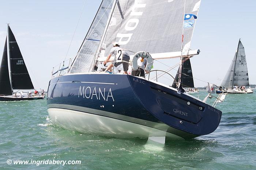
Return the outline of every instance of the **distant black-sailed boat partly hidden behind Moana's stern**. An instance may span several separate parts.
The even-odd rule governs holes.
[[[193,74],[190,59],[182,58],[183,64],[181,65],[181,84],[185,92],[188,94],[198,93],[198,90],[194,86]],[[173,81],[172,87],[177,88],[176,82],[178,82],[180,73],[180,67],[178,68],[175,80]]]

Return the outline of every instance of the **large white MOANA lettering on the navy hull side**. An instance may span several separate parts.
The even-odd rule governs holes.
[[[109,88],[109,90],[106,91],[106,88],[102,90],[100,87],[96,88],[96,86],[95,87],[80,86],[78,91],[78,97],[79,96],[87,99],[97,99],[97,100],[105,100],[105,101],[112,100],[113,102],[115,101],[112,95],[111,88]]]

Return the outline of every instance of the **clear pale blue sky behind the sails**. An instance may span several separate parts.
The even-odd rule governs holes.
[[[84,0],[1,1],[0,55],[9,22],[35,88],[47,89],[52,67],[65,58],[83,3]],[[76,55],[100,3],[101,0],[86,1],[67,58]],[[217,79],[224,78],[242,38],[249,81],[256,84],[255,8],[255,0],[202,0],[192,38],[192,48],[201,51],[191,59],[195,78],[221,84]],[[194,81],[196,87],[206,86],[205,82]]]

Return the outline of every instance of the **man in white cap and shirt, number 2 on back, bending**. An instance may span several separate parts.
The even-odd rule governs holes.
[[[110,50],[110,54],[106,58],[104,65],[108,63],[112,54],[116,54],[116,58],[112,61],[111,64],[109,64],[109,66],[106,68],[106,71],[109,71],[113,67],[114,63],[115,63],[114,65],[115,67],[119,66],[120,64],[123,64],[124,74],[128,74],[127,71],[129,66],[129,60],[130,60],[129,54],[125,50],[120,48],[120,45],[118,43],[114,42],[113,48]],[[122,62],[118,62],[118,60],[121,60]]]

